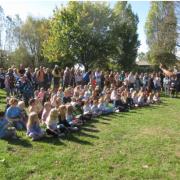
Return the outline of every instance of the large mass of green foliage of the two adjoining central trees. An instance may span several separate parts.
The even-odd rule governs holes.
[[[82,63],[86,68],[108,68],[112,63],[132,65],[137,54],[138,18],[127,3],[69,2],[54,11],[43,54],[63,65]],[[122,18],[123,15],[123,18]]]

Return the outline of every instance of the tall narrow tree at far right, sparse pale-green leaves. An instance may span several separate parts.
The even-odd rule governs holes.
[[[174,2],[151,2],[145,32],[152,64],[172,65],[175,63],[177,22]]]

